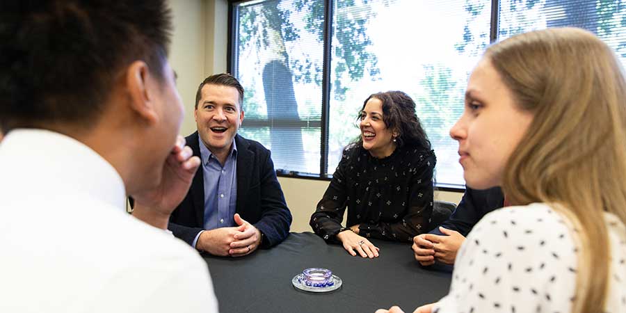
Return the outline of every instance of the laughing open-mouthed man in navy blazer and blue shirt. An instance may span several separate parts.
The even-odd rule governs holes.
[[[269,150],[237,134],[242,102],[243,87],[230,74],[200,83],[193,114],[198,131],[186,143],[202,166],[168,225],[212,255],[240,257],[275,246],[291,225]]]

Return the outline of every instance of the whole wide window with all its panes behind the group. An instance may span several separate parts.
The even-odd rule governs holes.
[[[624,24],[623,24],[624,23]],[[417,104],[438,186],[463,187],[449,129],[484,49],[556,26],[596,33],[626,60],[626,3],[573,0],[265,0],[232,3],[231,72],[246,88],[241,134],[279,175],[330,177],[372,93]]]

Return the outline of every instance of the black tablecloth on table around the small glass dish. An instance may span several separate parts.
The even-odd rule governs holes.
[[[412,312],[447,294],[451,274],[420,267],[410,244],[372,243],[380,248],[380,257],[364,259],[313,233],[291,233],[280,245],[246,257],[203,257],[222,313],[374,313],[391,305]],[[342,288],[328,294],[296,289],[291,279],[310,267],[330,269],[342,279]]]

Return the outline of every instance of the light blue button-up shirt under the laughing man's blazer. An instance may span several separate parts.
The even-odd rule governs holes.
[[[237,147],[232,141],[230,153],[224,166],[200,142],[200,159],[202,159],[202,176],[204,178],[204,230],[235,225],[232,216],[235,214],[237,200]],[[193,239],[193,247],[202,232]]]

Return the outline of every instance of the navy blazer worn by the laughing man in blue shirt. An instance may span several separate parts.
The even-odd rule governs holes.
[[[193,155],[200,157],[198,131],[185,138]],[[278,184],[270,152],[256,141],[236,135],[237,200],[236,213],[255,225],[264,239],[262,248],[275,246],[287,238],[291,212]],[[204,228],[204,174],[198,169],[184,200],[172,212],[168,229],[189,245]]]

